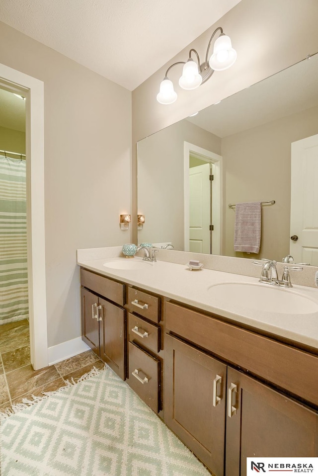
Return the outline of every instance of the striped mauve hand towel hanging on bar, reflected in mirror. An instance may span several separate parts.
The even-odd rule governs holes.
[[[234,251],[259,253],[261,202],[237,203],[235,209]]]

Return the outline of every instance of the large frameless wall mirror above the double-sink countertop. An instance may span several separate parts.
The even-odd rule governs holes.
[[[138,242],[317,266],[317,81],[318,54],[139,141]],[[235,205],[253,201],[260,251],[236,252]]]

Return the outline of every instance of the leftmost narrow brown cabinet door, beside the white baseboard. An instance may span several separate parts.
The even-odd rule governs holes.
[[[82,340],[95,354],[99,353],[99,322],[97,320],[98,297],[81,288],[81,333]]]

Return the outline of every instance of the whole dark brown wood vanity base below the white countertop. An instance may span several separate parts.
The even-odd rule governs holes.
[[[247,457],[318,457],[311,349],[83,268],[81,301],[82,339],[213,475],[245,476]]]

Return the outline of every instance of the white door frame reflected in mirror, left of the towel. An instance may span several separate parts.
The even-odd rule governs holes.
[[[213,221],[219,222],[219,229],[212,233],[212,250],[213,254],[222,254],[222,232],[223,232],[223,158],[214,152],[203,149],[202,147],[184,141],[183,143],[183,163],[184,163],[184,251],[189,250],[189,157],[190,154],[198,159],[212,163],[213,169],[213,187],[212,187],[212,217]]]

